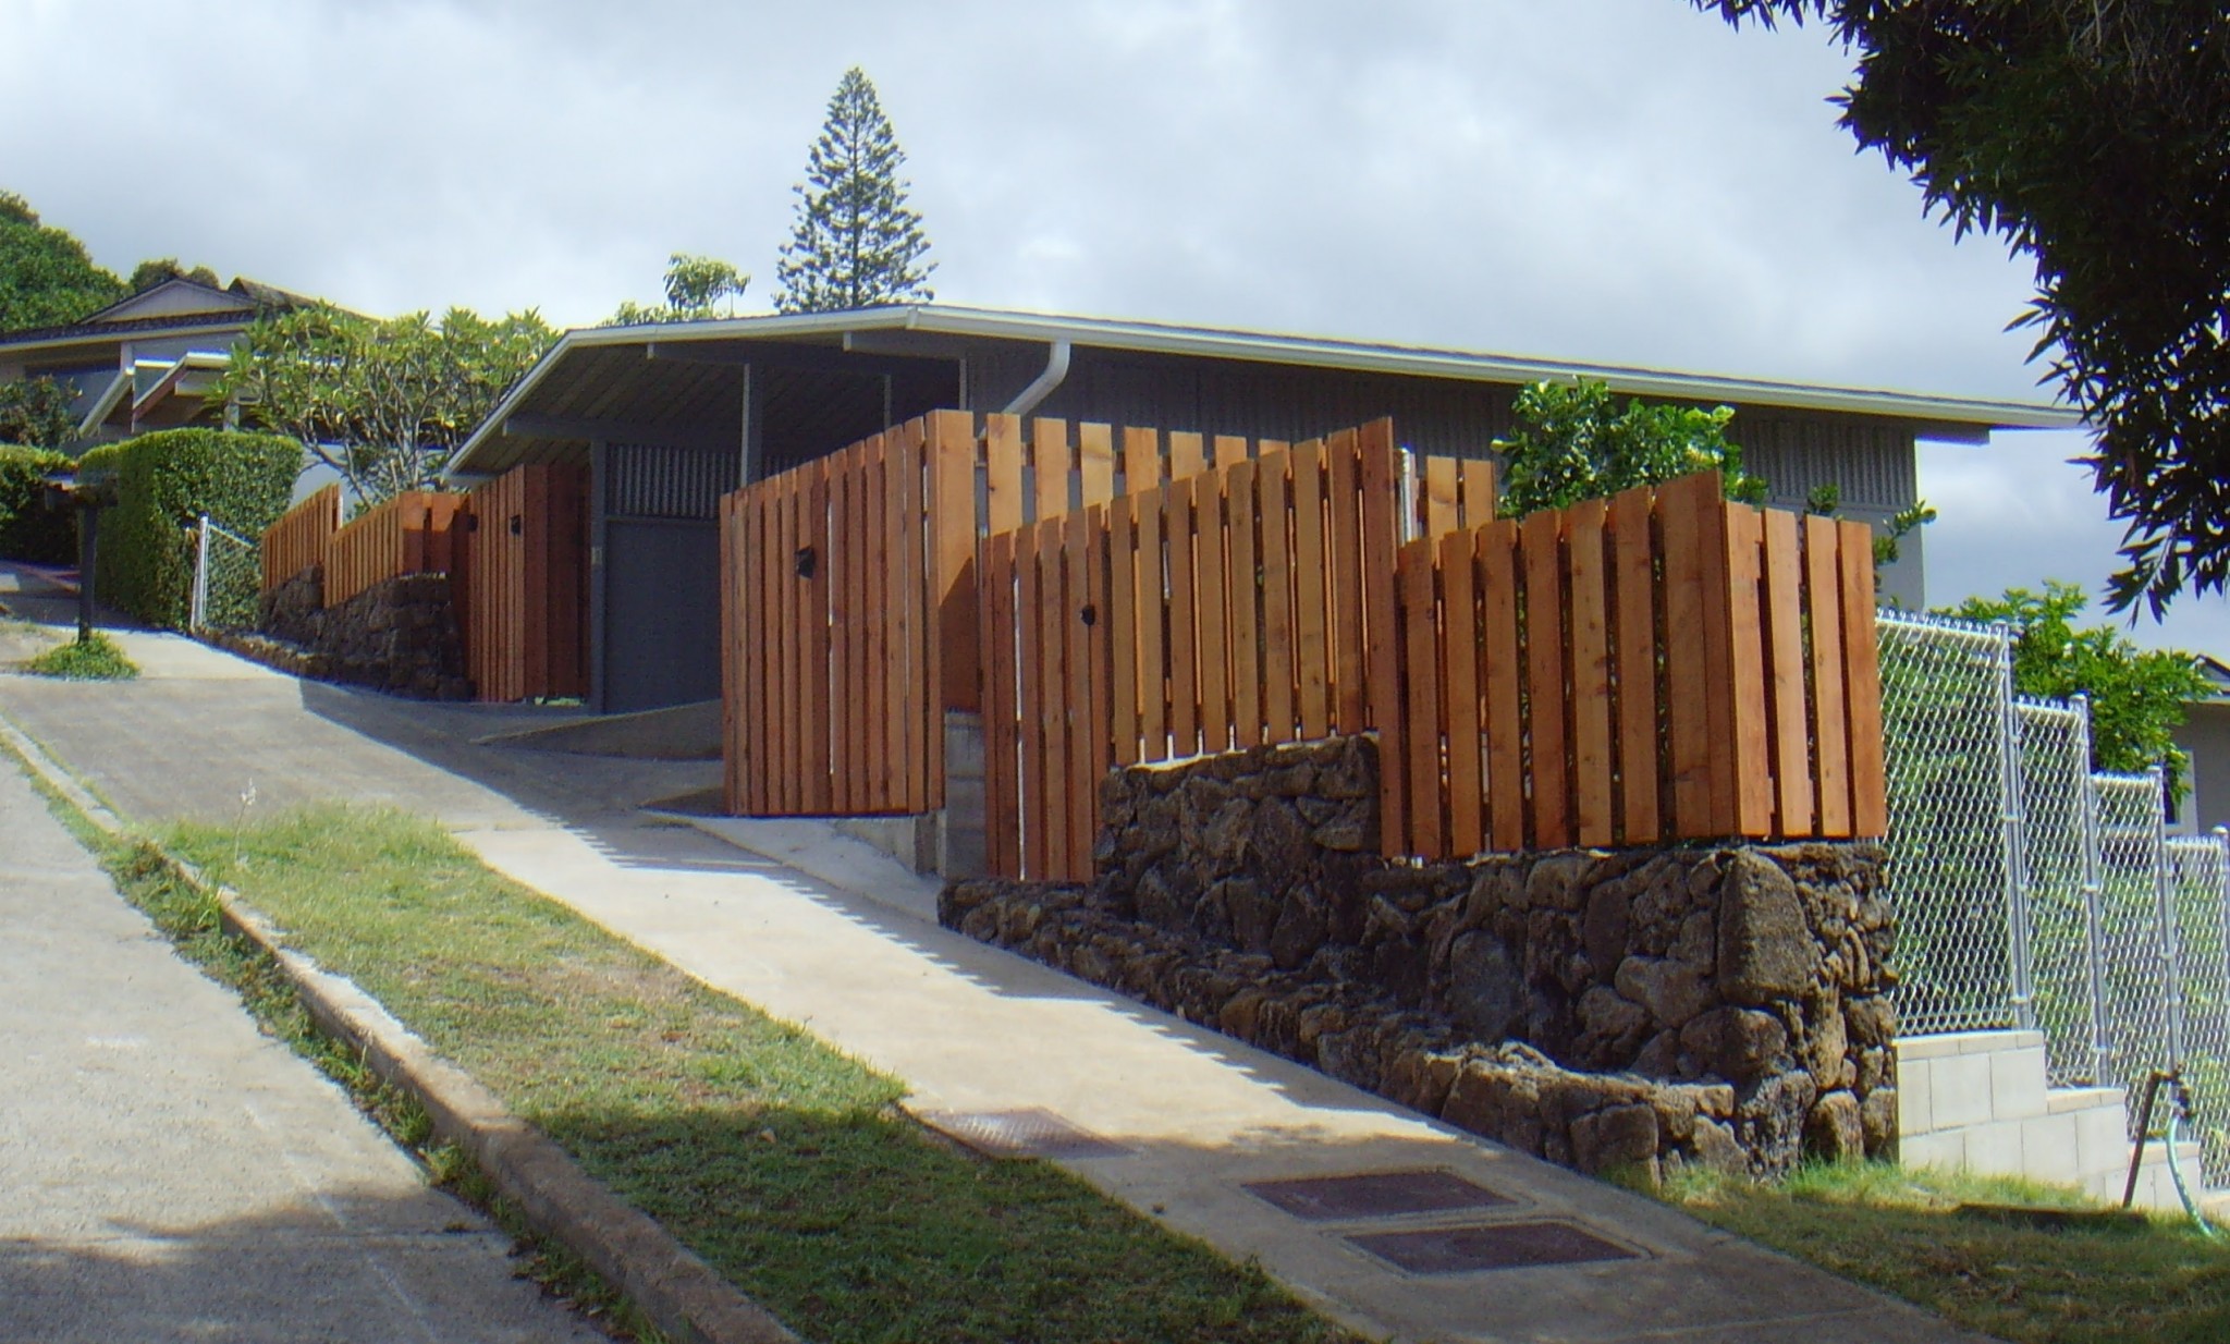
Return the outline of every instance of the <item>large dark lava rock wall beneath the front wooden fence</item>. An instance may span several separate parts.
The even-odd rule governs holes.
[[[941,916],[1581,1170],[1893,1150],[1875,847],[1387,863],[1376,796],[1367,738],[1117,771],[1090,887]]]

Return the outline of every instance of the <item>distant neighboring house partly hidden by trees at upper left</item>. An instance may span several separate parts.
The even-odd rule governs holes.
[[[234,279],[169,279],[58,328],[0,332],[0,383],[51,377],[74,392],[78,450],[140,430],[219,423],[205,395],[254,319],[314,303]]]

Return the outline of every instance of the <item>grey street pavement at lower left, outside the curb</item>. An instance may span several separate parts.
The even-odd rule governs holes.
[[[602,1340],[0,762],[0,1342]]]

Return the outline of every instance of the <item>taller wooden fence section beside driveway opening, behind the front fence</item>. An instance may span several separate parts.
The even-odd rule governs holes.
[[[979,539],[1258,450],[1282,446],[943,410],[727,495],[729,811],[943,807],[943,711],[983,707]],[[1427,464],[1418,515],[1445,513],[1467,479],[1481,479],[1478,464],[1470,477],[1454,459]]]

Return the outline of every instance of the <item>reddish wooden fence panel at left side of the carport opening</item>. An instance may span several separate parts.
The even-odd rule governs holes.
[[[586,695],[589,470],[515,466],[464,497],[459,524],[450,575],[473,695]]]

